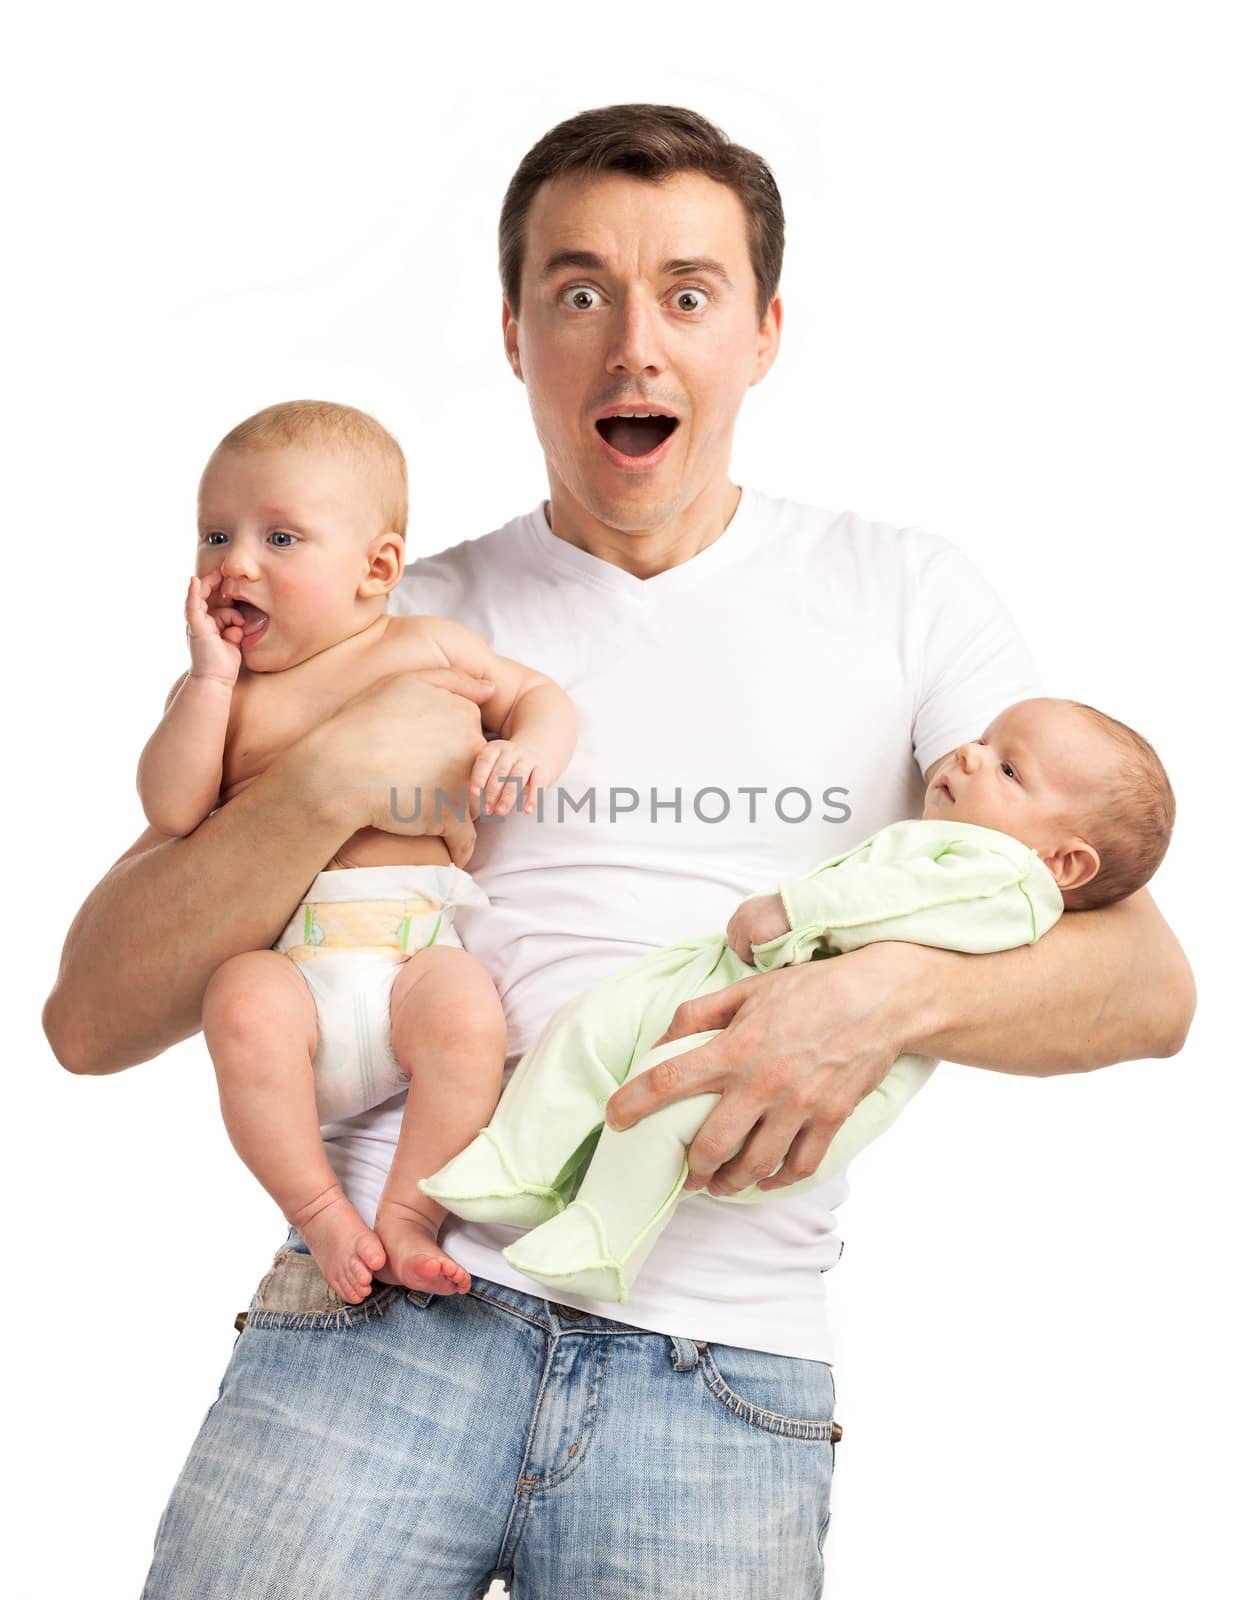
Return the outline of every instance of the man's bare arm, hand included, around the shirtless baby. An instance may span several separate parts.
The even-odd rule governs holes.
[[[194,1034],[211,973],[230,955],[269,947],[360,827],[440,832],[454,859],[465,859],[469,819],[424,805],[417,822],[400,826],[390,787],[459,794],[483,749],[472,701],[489,693],[448,670],[382,678],[187,838],[147,829],[69,930],[43,1008],[59,1062],[120,1072]]]

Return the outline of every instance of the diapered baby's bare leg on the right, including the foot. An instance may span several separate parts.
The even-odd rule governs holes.
[[[432,1294],[465,1294],[465,1267],[437,1243],[445,1208],[421,1192],[419,1179],[486,1126],[501,1094],[505,1018],[493,979],[465,950],[421,950],[395,979],[390,1034],[411,1088],[377,1206],[389,1256],[381,1275]]]

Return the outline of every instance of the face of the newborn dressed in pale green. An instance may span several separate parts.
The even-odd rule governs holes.
[[[1081,710],[1020,701],[937,770],[923,816],[996,827],[1047,858],[1115,776],[1113,746]]]

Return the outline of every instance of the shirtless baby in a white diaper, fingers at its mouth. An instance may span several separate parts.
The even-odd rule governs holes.
[[[445,666],[496,685],[481,709],[496,738],[470,774],[475,803],[499,816],[518,800],[534,810],[573,755],[574,707],[457,622],[387,614],[405,530],[403,453],[363,411],[291,402],[227,434],[198,493],[192,664],[138,768],[154,827],[190,834],[369,683]],[[318,874],[273,949],[224,962],[206,987],[202,1021],[232,1142],[350,1304],[382,1269],[437,1294],[470,1286],[437,1243],[445,1213],[417,1179],[485,1125],[501,1091],[501,1002],[453,926],[456,906],[486,904],[440,838],[366,827]],[[369,1229],[334,1178],[320,1123],[408,1080]]]

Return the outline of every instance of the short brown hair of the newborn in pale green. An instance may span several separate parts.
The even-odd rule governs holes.
[[[1140,890],[1164,859],[1177,803],[1161,758],[1134,728],[1081,701],[1070,704],[1116,746],[1118,766],[1099,811],[1076,826],[1100,856],[1089,883],[1067,890],[1067,910],[1113,906]]]

